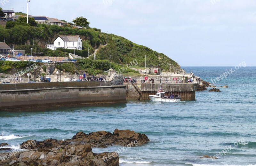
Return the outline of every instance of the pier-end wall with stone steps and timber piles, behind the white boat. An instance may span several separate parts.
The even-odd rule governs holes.
[[[149,100],[148,95],[155,95],[161,86],[166,96],[172,93],[180,95],[181,101],[196,100],[196,83],[128,83],[127,99]]]

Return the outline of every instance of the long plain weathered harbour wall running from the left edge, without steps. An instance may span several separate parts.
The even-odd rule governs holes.
[[[0,84],[0,111],[41,111],[118,103],[126,103],[126,86],[111,86],[104,81]]]

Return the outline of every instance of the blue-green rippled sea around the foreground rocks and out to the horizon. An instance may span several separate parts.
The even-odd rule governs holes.
[[[28,139],[62,140],[79,131],[128,129],[146,134],[150,141],[93,152],[119,151],[121,166],[256,166],[256,67],[183,68],[221,92],[196,92],[196,101],[180,103],[129,100],[110,107],[0,112],[0,143],[19,150]],[[223,85],[228,88],[220,88]],[[200,158],[203,155],[218,159]]]

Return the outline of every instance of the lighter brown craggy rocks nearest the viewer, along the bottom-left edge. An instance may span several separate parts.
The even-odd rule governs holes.
[[[45,142],[44,147],[48,147],[46,144]],[[112,155],[112,153],[94,154],[90,144],[61,145],[53,148],[31,149],[18,153],[2,153],[0,154],[0,161],[2,161],[0,165],[118,166],[119,157],[118,155]],[[111,158],[108,158],[109,154]],[[6,155],[8,156],[7,158]],[[108,160],[104,160],[104,158],[108,158]]]

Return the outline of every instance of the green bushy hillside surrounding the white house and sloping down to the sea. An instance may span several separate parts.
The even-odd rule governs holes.
[[[158,67],[160,64],[164,71],[181,70],[180,66],[166,55],[153,51],[148,47],[132,43],[124,37],[108,34],[107,44],[107,34],[102,33],[97,28],[87,27],[86,29],[78,29],[72,28],[70,25],[61,27],[45,24],[30,26],[19,21],[7,21],[6,27],[0,27],[0,38],[5,38],[5,42],[8,45],[14,43],[16,48],[26,48],[25,50],[28,54],[28,45],[33,42],[33,38],[35,39],[35,47],[37,50],[40,50],[39,52],[36,51],[36,54],[45,54],[48,56],[51,54],[54,56],[58,56],[56,54],[62,54],[61,52],[65,52],[65,49],[60,50],[59,53],[52,51],[49,53],[49,51],[43,49],[46,44],[52,44],[59,35],[80,35],[83,41],[82,46],[84,51],[81,51],[83,57],[88,56],[87,48],[89,47],[90,55],[94,53],[95,49],[98,49],[96,58],[99,60],[109,60],[109,55],[111,55],[111,62],[125,65],[136,59],[139,67],[145,67],[146,55],[147,67]],[[94,57],[91,56],[90,58],[93,59]]]

